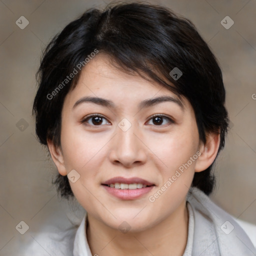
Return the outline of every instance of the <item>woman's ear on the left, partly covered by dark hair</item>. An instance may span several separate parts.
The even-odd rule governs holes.
[[[61,148],[59,146],[56,146],[50,139],[47,139],[47,145],[50,151],[51,159],[55,163],[59,174],[65,176],[67,172],[65,169],[64,158],[61,152]]]

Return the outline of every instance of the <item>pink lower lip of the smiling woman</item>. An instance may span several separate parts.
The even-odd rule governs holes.
[[[136,189],[118,189],[106,185],[102,185],[106,191],[113,196],[123,199],[123,200],[132,200],[137,199],[141,197],[142,195],[148,193],[153,186],[146,186],[142,188],[136,188]]]

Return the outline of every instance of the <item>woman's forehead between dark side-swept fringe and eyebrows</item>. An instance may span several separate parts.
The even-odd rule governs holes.
[[[74,103],[89,95],[107,98],[127,106],[144,99],[167,95],[180,101],[184,108],[189,105],[184,97],[181,96],[180,100],[163,85],[147,80],[135,72],[125,72],[114,66],[112,61],[109,55],[103,53],[93,57],[81,70],[76,86],[66,96],[67,100]]]

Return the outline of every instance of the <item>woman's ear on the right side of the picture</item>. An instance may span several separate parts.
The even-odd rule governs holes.
[[[199,151],[201,154],[195,163],[195,172],[200,172],[207,169],[216,158],[220,142],[220,134],[210,132],[206,135],[206,143],[200,145]]]

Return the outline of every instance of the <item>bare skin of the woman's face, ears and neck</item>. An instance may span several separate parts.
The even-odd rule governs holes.
[[[118,70],[110,61],[107,55],[97,54],[66,95],[61,146],[48,140],[51,157],[61,175],[72,169],[80,175],[69,183],[88,214],[86,232],[92,255],[182,255],[188,226],[185,196],[194,172],[213,162],[219,135],[209,133],[206,144],[200,143],[194,111],[184,97],[183,108],[164,101],[139,109],[142,100],[177,96],[137,74]],[[106,98],[115,106],[83,102],[73,107],[84,96]],[[103,116],[100,124],[93,118],[82,122],[93,113]],[[153,114],[165,115],[173,122],[163,117],[158,124]],[[123,118],[131,124],[126,131],[118,127]],[[149,201],[198,151],[201,155],[155,201]],[[122,200],[101,185],[115,176],[140,177],[155,186],[141,198]],[[130,226],[127,233],[119,230],[123,221]]]

